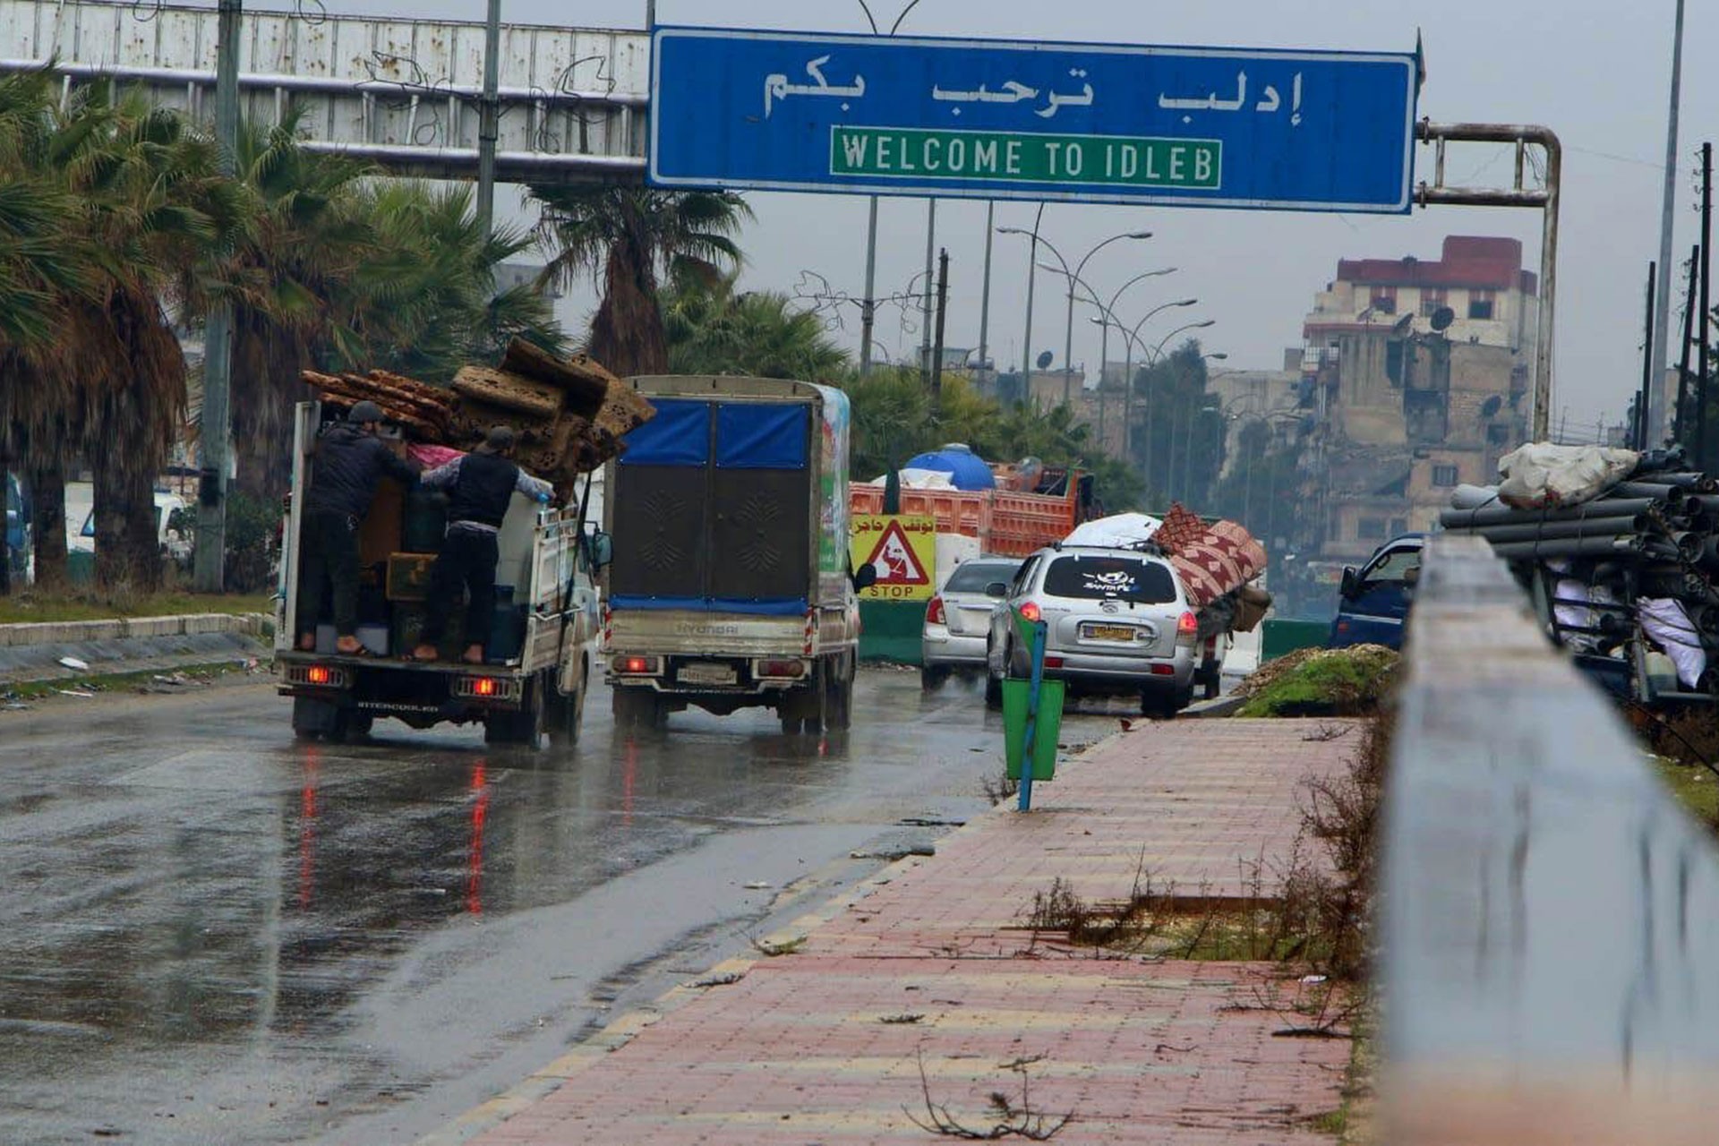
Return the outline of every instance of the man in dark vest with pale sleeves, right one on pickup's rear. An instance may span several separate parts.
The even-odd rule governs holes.
[[[554,486],[507,460],[514,431],[493,426],[480,445],[423,476],[433,490],[449,491],[447,536],[430,569],[430,601],[423,636],[409,660],[435,660],[442,631],[464,586],[466,651],[462,660],[483,663],[483,646],[490,643],[495,622],[495,562],[500,560],[497,536],[507,515],[514,490],[538,502],[548,502]]]

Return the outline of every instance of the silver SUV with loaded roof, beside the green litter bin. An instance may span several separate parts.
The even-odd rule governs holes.
[[[1009,582],[990,617],[985,699],[1002,703],[1002,679],[1031,675],[1016,619],[1045,622],[1045,677],[1069,696],[1138,696],[1147,716],[1174,716],[1193,701],[1198,619],[1181,579],[1150,550],[1050,546]]]

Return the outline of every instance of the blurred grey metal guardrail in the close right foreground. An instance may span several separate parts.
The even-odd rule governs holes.
[[[1719,1141],[1712,842],[1485,541],[1428,541],[1404,665],[1382,1141]]]

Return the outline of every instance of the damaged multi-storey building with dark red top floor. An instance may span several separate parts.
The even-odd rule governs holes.
[[[1303,574],[1325,584],[1526,440],[1537,282],[1516,239],[1449,235],[1439,259],[1343,259],[1303,325]]]

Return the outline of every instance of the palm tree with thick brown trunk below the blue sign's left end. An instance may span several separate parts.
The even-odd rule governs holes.
[[[751,208],[727,191],[648,187],[543,187],[538,241],[555,254],[545,282],[564,289],[590,273],[602,289],[586,351],[617,375],[660,375],[669,368],[657,283],[693,275],[717,282],[737,268],[732,235]]]

